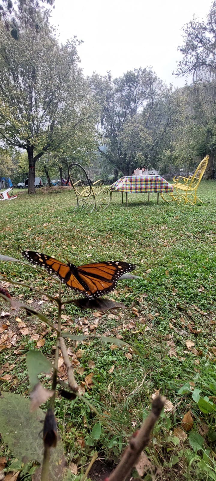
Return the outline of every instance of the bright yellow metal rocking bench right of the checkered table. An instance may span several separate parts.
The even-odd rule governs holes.
[[[161,197],[166,202],[176,201],[179,205],[181,203],[190,203],[194,205],[197,201],[203,203],[196,195],[197,187],[204,175],[204,171],[208,164],[209,155],[206,155],[200,162],[194,174],[190,177],[176,176],[173,178],[173,192],[165,194],[161,192]]]

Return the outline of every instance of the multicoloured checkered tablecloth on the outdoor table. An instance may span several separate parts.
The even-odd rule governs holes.
[[[161,176],[127,176],[120,177],[111,190],[119,192],[131,192],[132,194],[144,192],[172,192],[173,187]]]

